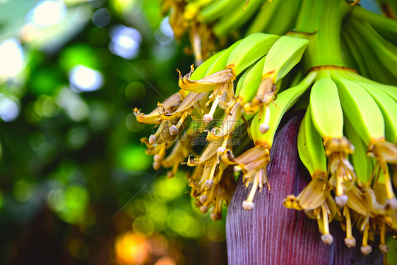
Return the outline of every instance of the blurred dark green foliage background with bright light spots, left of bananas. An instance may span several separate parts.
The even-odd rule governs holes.
[[[161,0],[0,0],[0,264],[226,264],[134,107],[189,71]],[[223,214],[225,216],[225,213]]]

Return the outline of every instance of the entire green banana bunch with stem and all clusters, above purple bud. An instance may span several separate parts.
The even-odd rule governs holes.
[[[262,188],[271,190],[266,166],[275,132],[287,112],[303,109],[297,148],[312,181],[283,205],[316,219],[326,244],[337,220],[348,247],[357,245],[356,227],[363,254],[375,235],[389,252],[386,230],[397,235],[397,20],[358,2],[165,1],[175,35],[191,34],[196,59],[210,50],[201,40],[234,31],[247,37],[179,72],[179,92],[153,112],[134,110],[138,122],[158,126],[141,139],[155,170],[171,168],[172,177],[181,163],[195,167],[191,196],[213,220],[222,218],[241,172],[250,187],[241,203],[250,211]],[[384,2],[392,13],[392,1]]]

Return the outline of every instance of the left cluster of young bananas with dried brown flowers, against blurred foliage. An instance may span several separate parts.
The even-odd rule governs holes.
[[[203,212],[214,206],[214,220],[220,217],[218,204],[222,199],[219,196],[224,192],[214,193],[213,189],[222,189],[223,183],[229,182],[223,182],[223,179],[232,176],[230,173],[224,174],[230,172],[230,165],[235,165],[237,171],[243,170],[247,186],[253,183],[251,199],[256,187],[261,189],[266,183],[268,152],[280,119],[309,87],[314,74],[295,88],[280,93],[279,105],[273,104],[273,99],[283,77],[300,61],[308,44],[307,40],[288,36],[251,34],[218,52],[197,69],[191,66],[190,73],[185,76],[179,73],[179,93],[158,103],[158,107],[150,114],[134,110],[138,122],[159,124],[155,134],[141,140],[148,146],[146,153],[154,155],[155,170],[161,166],[172,167],[168,172],[168,176],[172,177],[188,156],[186,165],[200,165],[200,169],[195,170],[189,179],[191,195],[196,198],[196,206]],[[274,114],[270,115],[271,112]],[[192,122],[183,131],[189,116]],[[238,144],[233,143],[233,134],[237,134],[237,128],[242,128],[241,120],[248,124],[251,119],[254,122],[251,123],[251,131],[246,130],[245,139],[254,141],[256,147],[234,158],[232,149]],[[266,128],[263,129],[263,126]],[[261,129],[257,133],[259,127]],[[208,145],[201,155],[190,155],[193,153],[193,143],[203,132],[207,133]],[[265,133],[266,143],[262,136]],[[237,140],[242,140],[239,136],[242,136],[241,131],[237,134]],[[173,145],[174,148],[165,157],[167,149]],[[260,167],[251,159],[251,153],[256,152],[260,153]],[[227,186],[230,187],[230,184]],[[251,199],[244,204],[249,204]]]

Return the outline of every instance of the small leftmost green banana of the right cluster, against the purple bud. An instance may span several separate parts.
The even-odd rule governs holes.
[[[300,160],[309,170],[312,178],[320,175],[327,177],[326,153],[321,136],[314,128],[312,114],[308,109],[300,124],[300,131],[297,137],[297,148]]]

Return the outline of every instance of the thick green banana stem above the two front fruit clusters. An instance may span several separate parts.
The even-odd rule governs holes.
[[[345,66],[340,30],[352,6],[343,0],[304,0],[295,25],[295,37],[310,41],[304,52],[304,68]],[[293,34],[290,34],[294,36]]]

